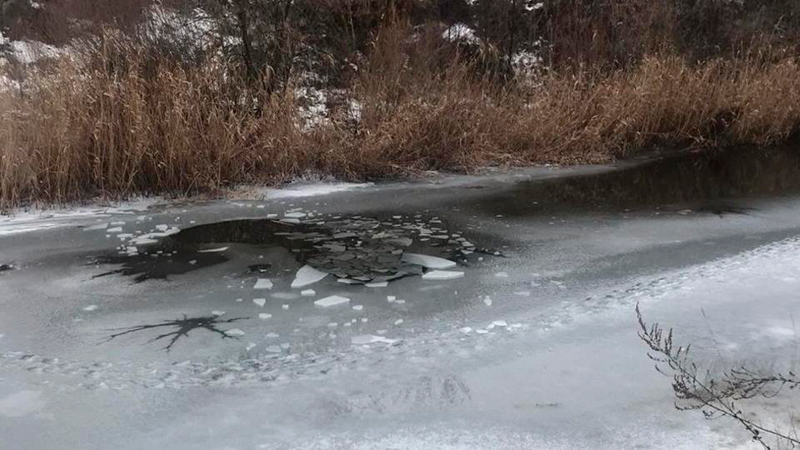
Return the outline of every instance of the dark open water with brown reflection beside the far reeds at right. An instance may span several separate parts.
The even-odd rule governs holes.
[[[798,191],[800,149],[743,148],[683,153],[612,172],[520,183],[511,192],[481,199],[478,206],[509,216],[655,207],[746,214],[735,200]]]

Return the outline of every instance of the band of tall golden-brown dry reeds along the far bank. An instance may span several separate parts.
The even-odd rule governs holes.
[[[664,53],[500,85],[390,31],[351,82],[360,121],[332,108],[312,128],[292,89],[262,92],[214,59],[180,65],[135,46],[122,60],[113,48],[65,58],[22,93],[0,93],[0,205],[214,193],[307,172],[598,162],[656,145],[779,143],[800,130],[794,57],[692,65]]]

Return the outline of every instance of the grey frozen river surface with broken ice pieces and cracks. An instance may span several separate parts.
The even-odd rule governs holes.
[[[639,303],[704,361],[789,363],[789,169],[756,158],[777,173],[758,182],[735,158],[708,161],[15,232],[0,238],[13,266],[0,272],[0,436],[34,449],[748,448],[732,424],[675,411],[636,338]],[[669,190],[704,174],[725,188],[623,201],[650,177]],[[587,186],[617,197],[580,197]]]

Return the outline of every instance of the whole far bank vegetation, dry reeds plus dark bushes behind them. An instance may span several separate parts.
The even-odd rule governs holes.
[[[598,163],[800,131],[790,1],[142,0],[127,26],[113,5],[77,31],[56,20],[80,3],[6,30],[66,50],[0,65],[14,80],[0,90],[0,209],[309,173]]]

